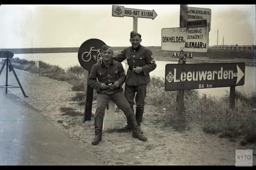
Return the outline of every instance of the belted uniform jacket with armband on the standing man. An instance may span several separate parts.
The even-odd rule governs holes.
[[[136,49],[132,46],[125,48],[120,54],[113,56],[113,60],[123,62],[127,60],[128,70],[125,83],[130,86],[139,86],[150,83],[150,72],[156,69],[156,62],[150,49],[140,45]],[[132,68],[142,67],[141,73],[135,73]]]

